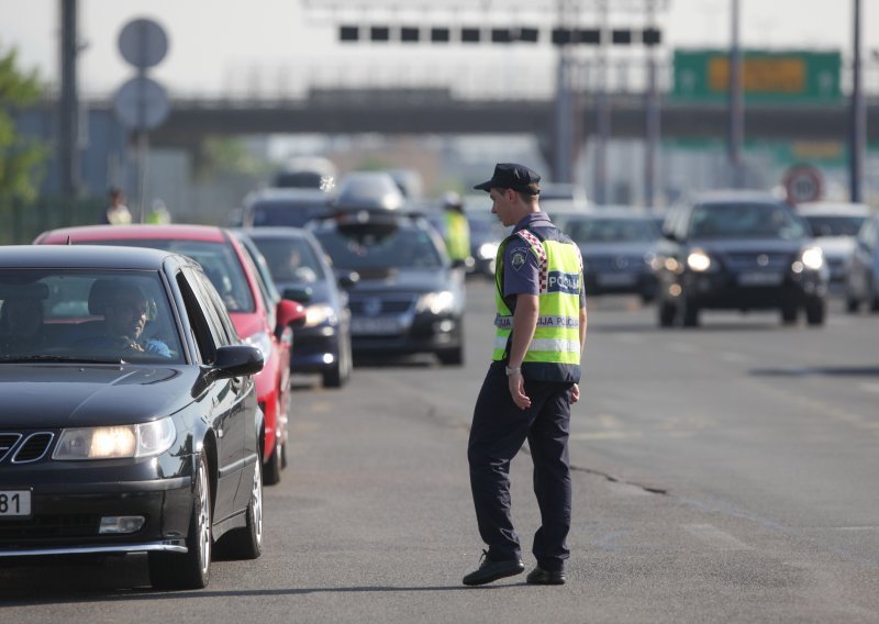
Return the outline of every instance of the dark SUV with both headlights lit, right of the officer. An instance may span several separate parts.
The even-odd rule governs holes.
[[[766,193],[717,191],[674,208],[654,264],[659,325],[699,324],[704,309],[801,309],[810,325],[826,313],[828,271],[809,225]]]

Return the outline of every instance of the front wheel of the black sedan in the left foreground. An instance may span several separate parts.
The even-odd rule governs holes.
[[[199,455],[186,554],[149,553],[149,580],[157,589],[201,589],[211,575],[211,483],[208,460]]]

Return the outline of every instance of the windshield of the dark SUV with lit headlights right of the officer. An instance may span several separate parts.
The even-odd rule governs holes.
[[[776,203],[711,203],[693,210],[693,238],[783,238],[809,236],[805,223]]]

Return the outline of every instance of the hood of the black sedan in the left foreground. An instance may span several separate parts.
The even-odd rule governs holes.
[[[131,424],[170,415],[192,402],[193,367],[0,366],[0,427],[56,428]]]

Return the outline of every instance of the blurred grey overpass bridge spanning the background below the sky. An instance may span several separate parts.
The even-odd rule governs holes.
[[[611,136],[646,134],[643,94],[608,96]],[[94,103],[92,108],[109,108]],[[588,141],[596,133],[596,97],[577,98],[576,123]],[[312,89],[300,99],[176,99],[167,121],[151,133],[154,145],[191,147],[208,135],[224,134],[507,134],[534,133],[552,141],[554,100],[456,99],[448,89]],[[848,103],[748,104],[745,133],[755,140],[844,141]],[[722,138],[727,127],[723,103],[660,104],[665,138]],[[879,141],[879,97],[867,101],[868,141]]]

